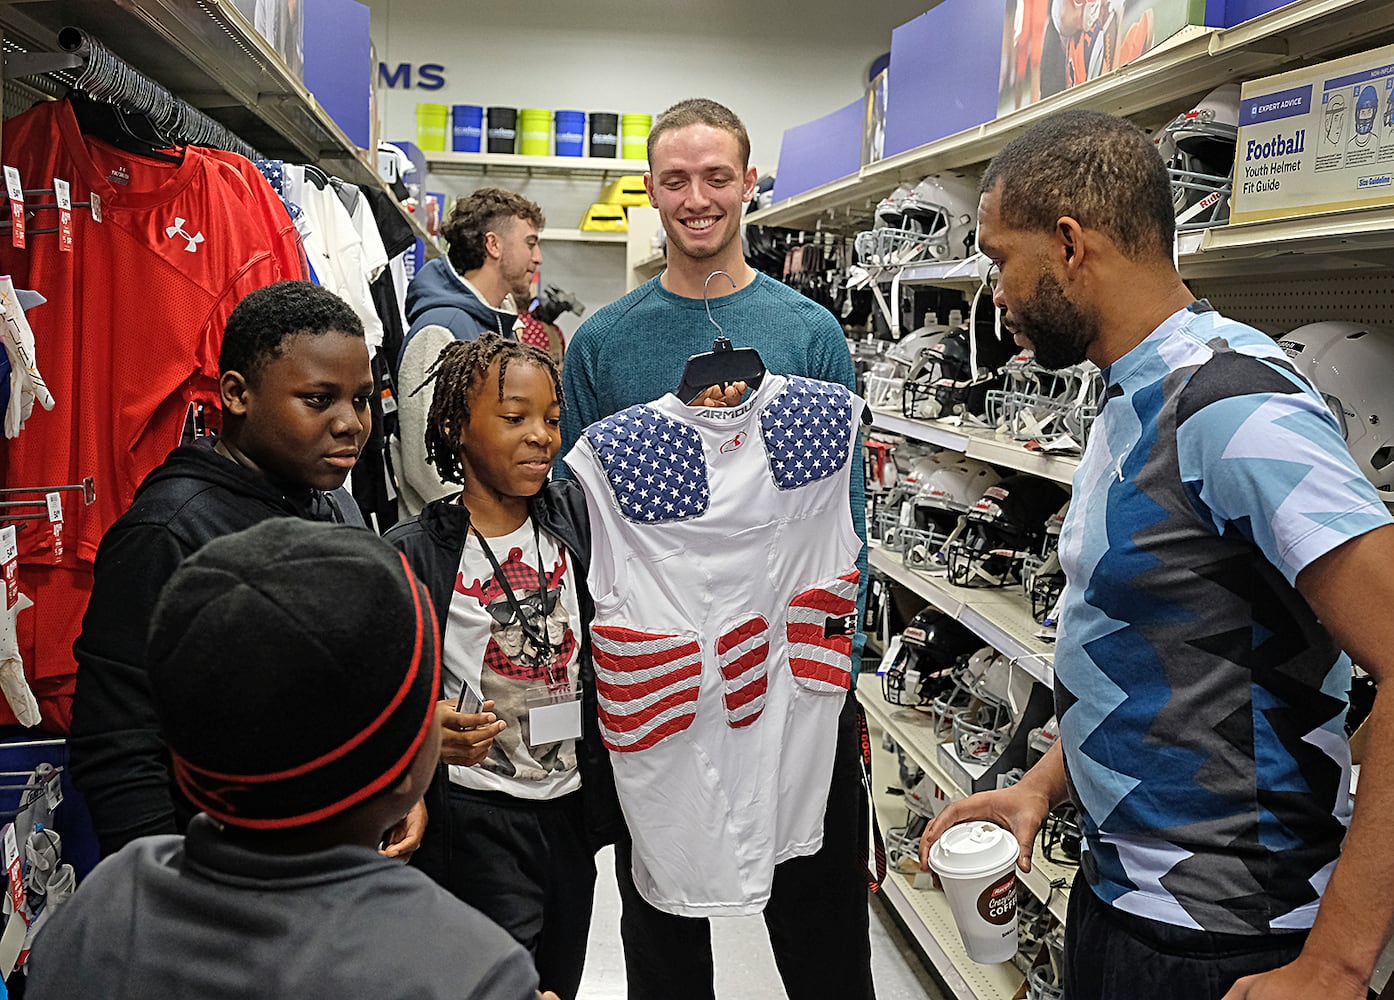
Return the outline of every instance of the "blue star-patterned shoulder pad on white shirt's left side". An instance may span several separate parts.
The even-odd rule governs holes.
[[[662,524],[707,513],[707,459],[696,427],[631,406],[587,427],[585,438],[626,520]]]

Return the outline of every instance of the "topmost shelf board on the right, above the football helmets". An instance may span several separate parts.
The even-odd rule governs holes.
[[[852,233],[896,184],[937,170],[977,166],[1043,117],[1069,107],[1160,124],[1190,96],[1231,79],[1280,73],[1394,38],[1391,0],[1296,0],[1234,28],[1188,28],[1128,66],[993,121],[907,149],[750,215],[761,226]],[[1373,220],[1372,220],[1373,222]]]

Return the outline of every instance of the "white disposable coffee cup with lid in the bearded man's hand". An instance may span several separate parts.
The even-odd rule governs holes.
[[[930,868],[974,962],[1005,962],[1016,954],[1019,851],[1011,831],[986,821],[949,827],[930,848]]]

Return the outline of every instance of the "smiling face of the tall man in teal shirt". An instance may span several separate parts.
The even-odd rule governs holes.
[[[740,212],[756,192],[732,132],[694,124],[658,137],[644,177],[668,233],[669,254],[704,261],[740,252]]]

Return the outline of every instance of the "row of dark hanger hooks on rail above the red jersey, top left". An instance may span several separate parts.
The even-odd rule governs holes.
[[[72,89],[93,100],[116,105],[124,112],[146,116],[171,142],[213,146],[247,159],[261,159],[261,153],[250,144],[188,102],[176,98],[81,28],[63,28],[59,32],[59,47],[84,60]]]

